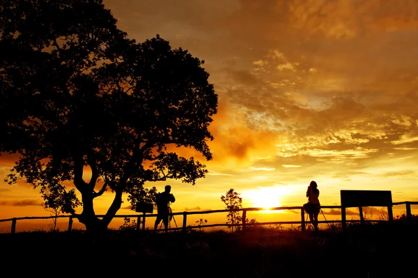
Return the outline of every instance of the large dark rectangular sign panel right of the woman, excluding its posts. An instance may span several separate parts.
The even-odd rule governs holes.
[[[341,206],[392,206],[390,190],[341,190]]]

